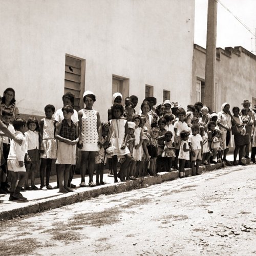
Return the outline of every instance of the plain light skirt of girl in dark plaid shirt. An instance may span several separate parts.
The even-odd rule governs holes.
[[[76,164],[76,145],[58,141],[56,164]]]

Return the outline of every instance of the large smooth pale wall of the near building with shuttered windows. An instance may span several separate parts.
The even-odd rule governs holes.
[[[21,113],[62,106],[65,54],[86,59],[86,90],[106,119],[112,74],[130,78],[130,95],[154,86],[173,101],[191,95],[194,0],[0,0],[1,95],[14,88]],[[182,97],[181,97],[182,95]]]

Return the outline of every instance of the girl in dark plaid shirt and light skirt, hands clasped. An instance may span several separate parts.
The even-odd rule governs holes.
[[[72,164],[76,164],[76,144],[79,141],[78,126],[73,123],[71,116],[74,114],[71,105],[62,108],[64,119],[56,125],[55,138],[59,140],[56,164],[58,166],[59,192],[73,192],[68,187],[69,171]],[[64,180],[64,182],[63,182]]]

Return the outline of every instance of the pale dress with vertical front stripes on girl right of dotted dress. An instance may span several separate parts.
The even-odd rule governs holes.
[[[110,120],[110,144],[116,147],[116,151],[111,154],[111,156],[125,156],[130,154],[127,146],[122,150],[121,147],[125,139],[125,124],[127,120],[125,119],[112,119]]]

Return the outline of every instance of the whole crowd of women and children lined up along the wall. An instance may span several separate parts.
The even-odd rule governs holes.
[[[185,168],[189,167],[192,176],[200,175],[200,165],[223,161],[226,165],[245,165],[242,157],[255,163],[256,105],[251,109],[248,100],[242,102],[241,108],[233,106],[231,114],[227,102],[220,112],[214,112],[202,102],[184,109],[178,102],[165,100],[157,104],[155,97],[147,97],[137,113],[137,96],[123,100],[120,93],[115,93],[108,120],[103,122],[93,109],[96,96],[92,91],[84,92],[85,107],[78,112],[73,108],[72,93],[64,94],[62,101],[63,108],[56,112],[54,105],[46,105],[41,120],[34,116],[24,120],[19,117],[15,91],[4,91],[0,104],[0,193],[10,193],[9,201],[27,201],[20,193],[25,189],[53,189],[49,179],[54,159],[59,192],[73,191],[76,186],[71,182],[78,155],[80,187],[86,186],[87,171],[89,186],[103,185],[106,163],[114,182],[172,170],[179,170],[179,177],[184,178]],[[229,162],[226,156],[233,142],[234,159]],[[40,187],[35,185],[38,170]]]

